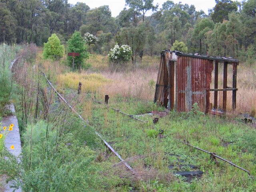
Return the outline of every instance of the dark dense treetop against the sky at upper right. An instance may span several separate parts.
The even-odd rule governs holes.
[[[215,0],[215,2],[214,12],[211,15],[214,23],[228,20],[228,14],[237,11],[237,4],[232,0]]]

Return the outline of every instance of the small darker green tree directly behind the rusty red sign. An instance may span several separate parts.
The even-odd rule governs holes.
[[[75,31],[72,37],[68,40],[68,52],[80,53],[80,56],[75,56],[74,66],[77,69],[81,69],[84,61],[89,58],[89,52],[87,52],[87,46],[81,33]],[[68,63],[72,66],[72,56],[68,57]]]

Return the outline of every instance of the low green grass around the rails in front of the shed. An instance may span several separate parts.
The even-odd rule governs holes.
[[[90,97],[83,100],[78,108],[82,108],[89,100]],[[110,98],[109,105],[127,114],[163,110],[152,102],[134,98],[124,100],[121,96]],[[202,178],[195,178],[190,183],[181,177],[174,178],[172,182],[155,178],[152,183],[158,182],[158,188],[160,188],[158,191],[253,191],[256,187],[255,180],[250,180],[246,172],[220,160],[218,160],[220,164],[218,167],[210,160],[209,154],[179,142],[179,140],[186,140],[194,146],[215,152],[238,166],[250,170],[252,176],[255,176],[256,153],[249,144],[241,145],[246,143],[244,137],[248,134],[253,135],[254,130],[239,120],[230,121],[225,117],[201,116],[200,113],[170,112],[168,116],[160,118],[159,123],[155,125],[152,116],[140,116],[140,119],[146,121],[142,123],[97,103],[93,103],[91,113],[90,123],[122,158],[144,155],[144,158],[130,162],[133,168],[154,168],[158,172],[173,173],[193,171],[189,165],[194,165],[204,171]],[[251,140],[253,140],[252,137]],[[251,144],[254,143],[251,142]],[[114,163],[119,160],[115,156],[110,156],[104,161]],[[175,168],[169,170],[170,165]],[[156,187],[148,182],[131,186],[124,184],[123,187],[115,190],[129,191],[130,188],[138,191],[156,190]]]

